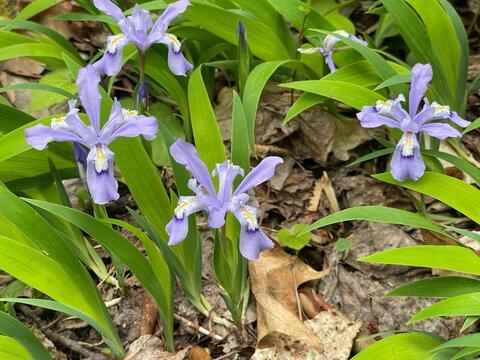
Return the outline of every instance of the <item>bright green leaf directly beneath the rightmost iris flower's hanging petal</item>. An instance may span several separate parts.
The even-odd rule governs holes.
[[[461,180],[432,172],[425,172],[417,181],[397,181],[389,173],[377,174],[373,177],[431,196],[480,224],[480,212],[477,206],[480,204],[480,190]]]

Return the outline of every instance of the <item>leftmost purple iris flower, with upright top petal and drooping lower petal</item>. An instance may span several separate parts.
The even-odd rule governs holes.
[[[101,96],[98,89],[100,76],[92,65],[78,72],[78,95],[85,108],[90,125],[85,125],[78,116],[76,101],[70,100],[70,111],[60,118],[53,118],[51,126],[42,124],[25,129],[25,139],[37,150],[43,150],[52,141],[73,141],[76,161],[86,165],[86,181],[92,199],[97,204],[106,204],[118,199],[118,183],[113,174],[113,152],[108,145],[118,137],[143,135],[147,140],[155,138],[158,124],[154,117],[138,115],[134,110],[122,109],[115,99],[110,117],[100,129]],[[79,148],[89,150],[85,158]],[[84,150],[84,149],[83,149]]]

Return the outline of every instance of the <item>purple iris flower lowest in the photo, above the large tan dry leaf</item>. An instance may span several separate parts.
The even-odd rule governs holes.
[[[200,160],[197,150],[192,144],[182,139],[171,147],[170,153],[175,161],[190,171],[193,179],[188,187],[194,196],[181,196],[174,210],[173,219],[167,224],[166,230],[170,236],[169,245],[183,241],[188,233],[188,216],[200,210],[208,212],[208,224],[217,229],[225,224],[227,212],[231,212],[241,225],[240,252],[250,260],[258,259],[265,249],[273,248],[273,242],[260,230],[257,221],[257,209],[246,205],[249,196],[246,192],[270,179],[278,164],[283,160],[270,156],[262,160],[233,191],[233,181],[237,175],[243,176],[243,169],[232,165],[228,160],[217,164],[212,176],[218,176],[219,188],[215,191],[212,177],[207,166]]]

